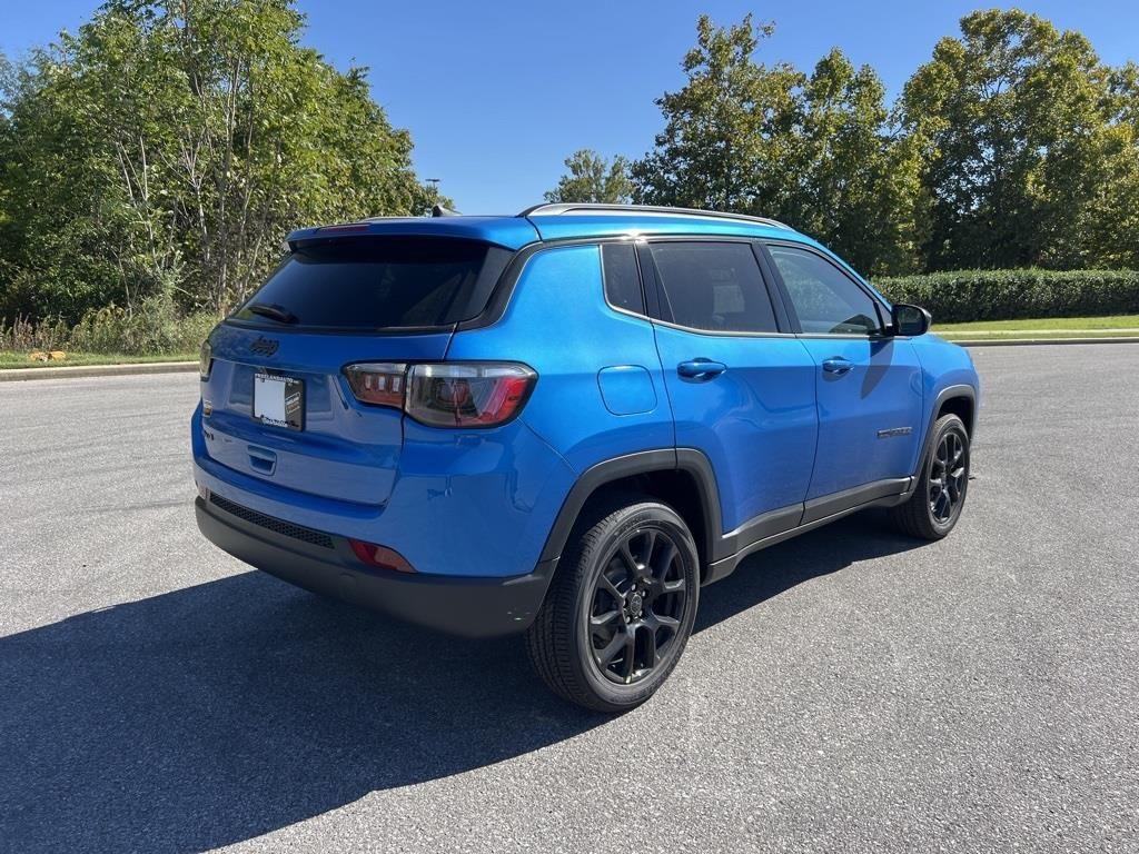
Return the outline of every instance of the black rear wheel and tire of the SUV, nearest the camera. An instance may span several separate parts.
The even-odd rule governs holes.
[[[693,632],[696,543],[672,508],[636,498],[587,516],[571,543],[526,631],[526,651],[558,696],[626,712],[664,683]]]

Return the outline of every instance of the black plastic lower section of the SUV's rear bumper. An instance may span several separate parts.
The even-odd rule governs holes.
[[[528,575],[508,578],[370,569],[341,536],[282,534],[200,498],[195,511],[206,539],[257,569],[317,593],[466,638],[525,631],[541,607],[557,564],[543,561]]]

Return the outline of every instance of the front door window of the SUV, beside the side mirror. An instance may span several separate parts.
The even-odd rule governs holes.
[[[813,252],[769,246],[804,332],[874,335],[877,303],[834,264]]]

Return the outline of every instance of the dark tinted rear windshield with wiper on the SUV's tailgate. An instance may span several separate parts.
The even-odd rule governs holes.
[[[510,252],[453,238],[331,239],[301,246],[235,312],[249,322],[336,329],[434,328],[486,305]],[[261,310],[255,310],[260,307]]]

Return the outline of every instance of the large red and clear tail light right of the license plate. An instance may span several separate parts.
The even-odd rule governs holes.
[[[361,403],[403,409],[432,427],[495,427],[526,404],[538,375],[514,362],[407,366],[361,362],[344,369]]]

